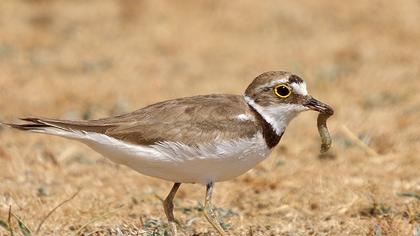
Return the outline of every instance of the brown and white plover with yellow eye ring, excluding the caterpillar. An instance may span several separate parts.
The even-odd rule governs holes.
[[[173,199],[179,187],[202,184],[204,216],[226,235],[213,210],[215,183],[267,158],[290,121],[308,110],[325,113],[331,107],[309,95],[298,75],[269,71],[254,78],[242,95],[172,99],[96,120],[29,117],[3,125],[80,141],[115,163],[172,182],[163,201],[172,235],[178,235]]]

